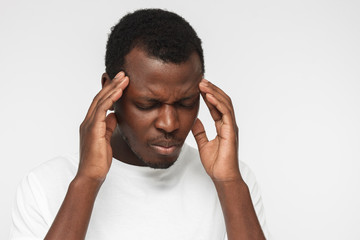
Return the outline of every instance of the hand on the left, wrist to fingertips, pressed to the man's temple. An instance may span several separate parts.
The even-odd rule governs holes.
[[[85,120],[80,126],[80,162],[77,178],[86,178],[102,183],[110,169],[112,149],[111,135],[117,121],[108,110],[122,96],[129,84],[124,72],[119,72],[112,81],[106,81],[102,90],[90,105]]]

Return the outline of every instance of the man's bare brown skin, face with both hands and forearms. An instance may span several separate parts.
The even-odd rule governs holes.
[[[181,64],[164,63],[135,48],[125,57],[124,68],[127,76],[120,72],[111,80],[103,74],[103,88],[80,127],[77,175],[45,239],[85,238],[113,157],[137,166],[169,167],[190,130],[216,187],[228,239],[265,239],[238,166],[238,129],[231,99],[202,79],[198,55]],[[199,95],[217,131],[210,141],[197,118]],[[107,115],[113,107],[115,114]]]

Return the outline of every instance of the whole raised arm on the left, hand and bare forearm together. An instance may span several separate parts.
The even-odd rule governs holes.
[[[84,239],[98,190],[112,161],[111,135],[117,121],[108,110],[129,84],[123,72],[108,79],[90,105],[80,126],[80,163],[65,199],[45,239]]]

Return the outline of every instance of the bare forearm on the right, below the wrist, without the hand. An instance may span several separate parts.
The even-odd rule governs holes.
[[[238,179],[214,181],[214,184],[223,210],[228,239],[265,239],[246,183]]]

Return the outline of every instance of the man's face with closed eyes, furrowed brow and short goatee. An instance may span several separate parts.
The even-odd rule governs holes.
[[[118,130],[133,157],[167,168],[178,158],[197,117],[200,59],[193,53],[184,63],[164,63],[134,48],[124,69],[130,83],[115,104]]]

